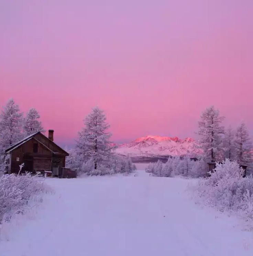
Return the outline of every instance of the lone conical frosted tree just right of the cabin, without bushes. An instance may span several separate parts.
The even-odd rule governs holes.
[[[81,161],[92,160],[94,169],[100,165],[108,165],[111,159],[112,147],[109,141],[111,133],[106,122],[106,116],[98,107],[92,108],[90,114],[84,120],[85,127],[79,132],[77,151]]]

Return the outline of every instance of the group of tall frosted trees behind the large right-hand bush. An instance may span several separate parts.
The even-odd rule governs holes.
[[[252,141],[244,123],[233,130],[225,130],[219,110],[207,108],[199,121],[200,145],[204,157],[209,161],[222,161],[225,158],[236,160],[239,164],[251,165]]]

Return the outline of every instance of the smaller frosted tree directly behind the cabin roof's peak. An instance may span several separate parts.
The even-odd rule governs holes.
[[[29,136],[37,131],[45,132],[42,127],[41,121],[38,119],[40,115],[35,108],[31,108],[24,119],[24,134],[25,136]]]

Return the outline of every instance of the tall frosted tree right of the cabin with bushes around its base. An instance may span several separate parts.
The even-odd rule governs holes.
[[[110,141],[109,124],[103,110],[92,108],[84,120],[85,127],[78,133],[76,148],[68,150],[70,156],[66,166],[78,168],[87,175],[131,173],[135,166],[129,157],[113,153],[114,144]]]

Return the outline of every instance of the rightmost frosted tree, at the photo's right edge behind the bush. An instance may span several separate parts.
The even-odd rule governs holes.
[[[234,139],[235,159],[239,164],[250,164],[252,161],[252,141],[246,125],[242,123],[236,130]]]

